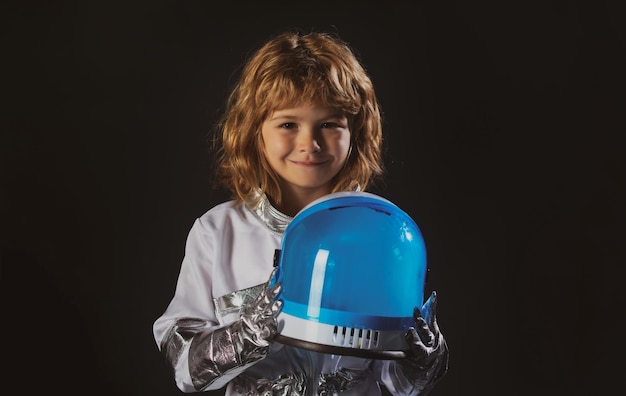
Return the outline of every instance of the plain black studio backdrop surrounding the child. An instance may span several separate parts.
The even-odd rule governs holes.
[[[621,2],[3,8],[3,387],[179,394],[152,323],[193,220],[226,199],[206,136],[245,57],[297,27],[336,31],[377,88],[373,192],[422,228],[451,350],[432,394],[619,393]]]

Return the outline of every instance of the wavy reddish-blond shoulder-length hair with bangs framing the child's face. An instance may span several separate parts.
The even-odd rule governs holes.
[[[332,192],[365,190],[383,173],[381,111],[374,86],[349,45],[336,35],[278,34],[244,64],[216,124],[216,184],[255,207],[261,194],[281,204],[278,175],[263,154],[261,125],[276,109],[320,104],[348,117],[351,146]]]

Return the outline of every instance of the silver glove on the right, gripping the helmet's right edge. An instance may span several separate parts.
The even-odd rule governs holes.
[[[448,345],[437,324],[437,293],[432,292],[422,309],[415,307],[415,327],[406,332],[409,353],[397,361],[420,395],[429,392],[448,371]]]

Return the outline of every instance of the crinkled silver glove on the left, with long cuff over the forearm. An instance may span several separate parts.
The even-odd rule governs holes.
[[[256,300],[242,308],[239,320],[196,334],[189,350],[189,370],[197,390],[205,389],[227,373],[237,375],[267,356],[278,333],[276,315],[282,309],[282,301],[276,297],[280,289],[278,282],[271,287],[266,284]]]

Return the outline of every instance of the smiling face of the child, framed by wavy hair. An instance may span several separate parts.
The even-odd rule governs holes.
[[[330,193],[331,180],[350,150],[348,119],[342,112],[316,105],[275,110],[263,122],[261,134],[265,157],[280,176],[283,193],[314,198]]]

